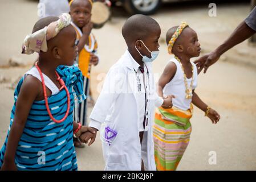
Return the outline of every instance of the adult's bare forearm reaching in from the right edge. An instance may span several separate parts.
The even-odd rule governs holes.
[[[229,50],[230,48],[234,47],[235,45],[243,42],[244,40],[250,38],[255,34],[255,31],[251,29],[245,21],[239,24],[237,28],[233,31],[233,33],[225,40],[221,46],[216,48],[216,52],[218,53],[219,56],[221,56],[224,52]]]

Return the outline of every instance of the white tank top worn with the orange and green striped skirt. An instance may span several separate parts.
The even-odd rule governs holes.
[[[173,106],[178,107],[178,109],[182,110],[188,110],[190,108],[190,103],[192,102],[192,99],[186,99],[186,93],[185,93],[185,83],[184,83],[184,73],[181,69],[181,65],[174,57],[169,60],[172,61],[174,64],[176,64],[176,73],[172,80],[168,82],[168,84],[165,85],[163,89],[164,97],[169,95],[174,95],[176,98],[172,99]],[[197,86],[197,67],[196,64],[191,63],[194,67],[193,69],[193,85],[192,90],[196,88]],[[190,86],[192,78],[186,78],[186,81],[188,82],[188,86]]]

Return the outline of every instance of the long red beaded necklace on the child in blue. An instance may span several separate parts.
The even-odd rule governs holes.
[[[55,71],[55,75],[57,76],[57,81],[59,81],[59,84],[60,84],[60,89],[59,90],[62,90],[64,88],[66,90],[66,93],[67,93],[67,111],[66,111],[66,114],[64,115],[64,117],[62,119],[57,120],[52,116],[49,105],[48,105],[47,94],[46,94],[46,85],[44,84],[43,73],[40,70],[40,68],[38,67],[38,62],[35,63],[35,67],[38,70],[38,72],[40,74],[40,77],[42,79],[43,96],[44,96],[44,100],[46,102],[46,109],[47,109],[47,112],[48,112],[50,118],[52,119],[52,121],[54,121],[56,123],[61,123],[61,122],[65,121],[65,119],[67,118],[68,113],[70,111],[70,93],[68,92],[67,86],[65,85],[62,78],[60,78],[59,74]]]

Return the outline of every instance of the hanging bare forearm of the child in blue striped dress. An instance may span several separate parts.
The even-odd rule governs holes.
[[[15,154],[17,151],[19,140],[21,139],[23,129],[25,125],[24,122],[16,122],[14,120],[13,125],[9,133],[6,152],[5,152],[5,162],[14,162]]]

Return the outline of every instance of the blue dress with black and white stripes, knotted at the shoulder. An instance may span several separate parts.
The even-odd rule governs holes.
[[[75,147],[73,144],[73,108],[74,94],[79,101],[83,94],[82,72],[78,67],[59,66],[57,72],[70,92],[70,112],[62,123],[51,121],[45,101],[34,101],[21,140],[15,155],[18,170],[77,170]],[[0,151],[0,167],[6,150],[6,143],[13,124],[15,105],[24,77],[14,92],[14,106],[11,110],[11,122],[7,137]],[[67,110],[67,94],[63,89],[48,97],[48,104],[55,119],[62,119]]]

